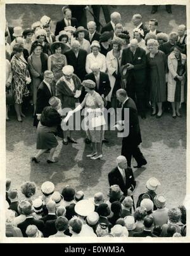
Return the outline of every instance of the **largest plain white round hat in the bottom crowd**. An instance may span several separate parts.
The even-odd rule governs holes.
[[[75,213],[79,214],[80,216],[87,216],[89,213],[94,212],[94,209],[94,204],[87,199],[80,200],[75,205]]]

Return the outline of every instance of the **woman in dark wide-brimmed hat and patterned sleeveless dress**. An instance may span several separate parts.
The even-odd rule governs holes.
[[[54,42],[51,44],[51,52],[53,54],[47,60],[47,69],[53,72],[56,82],[63,76],[62,69],[67,65],[66,57],[61,53],[63,48],[67,48],[65,43]]]

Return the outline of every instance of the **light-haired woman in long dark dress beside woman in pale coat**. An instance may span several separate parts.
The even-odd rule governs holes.
[[[162,102],[167,100],[165,74],[167,69],[167,58],[163,51],[158,50],[158,41],[149,39],[149,53],[147,57],[149,85],[150,85],[150,100],[153,107],[151,116],[156,115],[156,105],[158,112],[156,118],[162,116]]]

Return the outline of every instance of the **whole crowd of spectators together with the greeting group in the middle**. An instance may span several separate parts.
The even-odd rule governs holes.
[[[186,208],[168,210],[165,196],[155,192],[160,184],[156,178],[146,182],[148,191],[134,203],[136,181],[130,168],[132,157],[137,168],[147,163],[139,149],[138,114],[146,119],[151,109],[151,116],[162,118],[163,111],[171,109],[172,118],[182,116],[187,83],[186,26],[179,25],[178,31],[167,35],[157,30],[157,20],[150,19],[147,28],[142,16],[135,14],[135,29],[129,34],[115,11],[99,31],[98,20],[89,21],[85,27],[70,6],[63,7],[62,12],[63,19],[56,23],[54,33],[46,15],[25,30],[6,24],[6,121],[9,106],[15,105],[21,123],[25,118],[23,100],[32,95],[39,150],[32,161],[36,164],[44,152],[49,152],[47,163],[57,162],[56,135],[63,138],[63,145],[77,143],[72,127],[64,130],[63,126],[84,107],[85,115],[95,111],[100,123],[99,130],[96,125],[86,130],[85,143],[92,144],[87,158],[103,157],[102,142],[107,142],[105,108],[116,110],[122,104],[122,117],[117,122],[121,130],[126,121],[124,110],[129,108],[129,135],[122,140],[117,168],[108,175],[108,201],[102,192],[85,198],[83,191],[69,185],[60,193],[49,181],[42,184],[40,197],[34,182],[25,182],[21,187],[25,199],[20,199],[18,191],[10,189],[8,179],[6,236],[186,236]],[[67,115],[66,108],[70,109]],[[91,125],[93,118],[88,119]]]

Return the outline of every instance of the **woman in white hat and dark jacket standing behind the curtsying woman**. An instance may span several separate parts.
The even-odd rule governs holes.
[[[63,76],[56,83],[56,97],[61,100],[61,107],[75,109],[75,104],[79,102],[79,97],[82,90],[82,84],[79,77],[73,74],[74,69],[71,65],[65,65],[62,69]],[[63,145],[77,143],[72,137],[72,127],[63,131]]]

